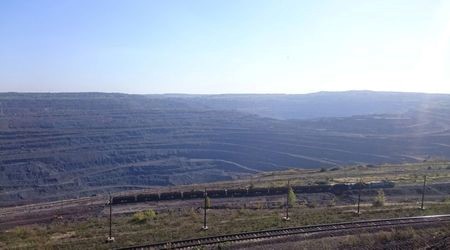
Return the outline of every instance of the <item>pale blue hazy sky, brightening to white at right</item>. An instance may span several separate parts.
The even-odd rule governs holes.
[[[0,91],[450,93],[450,1],[0,1]]]

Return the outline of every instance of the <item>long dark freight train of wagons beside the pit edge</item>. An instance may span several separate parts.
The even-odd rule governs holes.
[[[291,186],[293,191],[300,193],[333,193],[340,195],[346,191],[358,189],[380,189],[393,188],[394,183],[389,181],[371,182],[371,183],[352,183],[352,184],[333,184],[333,185],[310,185],[310,186]],[[254,196],[270,196],[282,195],[288,191],[287,187],[250,187],[250,188],[234,188],[234,189],[212,189],[207,190],[210,198],[231,198],[231,197],[254,197]],[[146,201],[167,201],[167,200],[190,200],[204,197],[204,191],[177,191],[163,193],[142,193],[136,195],[114,196],[112,204],[124,204]]]

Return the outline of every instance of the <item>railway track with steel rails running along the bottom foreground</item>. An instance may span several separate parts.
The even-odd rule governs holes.
[[[334,224],[321,224],[314,226],[290,227],[281,229],[272,229],[255,232],[245,232],[237,234],[226,234],[219,236],[209,236],[195,239],[179,240],[172,242],[162,242],[156,244],[131,246],[120,248],[122,250],[144,250],[144,249],[181,249],[192,248],[197,246],[215,245],[227,242],[241,242],[249,240],[270,239],[291,235],[307,235],[312,233],[332,233],[339,231],[373,229],[386,227],[400,227],[407,225],[429,224],[439,222],[450,222],[450,214],[431,215],[419,217],[404,217],[395,219],[382,220],[364,220]]]

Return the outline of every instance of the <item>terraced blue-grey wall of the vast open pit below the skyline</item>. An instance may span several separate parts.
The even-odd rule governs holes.
[[[389,110],[380,104],[389,94],[369,94],[375,108],[343,104],[345,116],[325,112],[323,95],[339,110],[338,96],[348,103],[349,94],[323,93],[323,117],[301,120],[287,119],[310,116],[289,95],[0,94],[0,205],[291,167],[449,158],[449,96],[391,93]],[[220,98],[235,98],[234,107]],[[378,104],[385,114],[373,114]]]

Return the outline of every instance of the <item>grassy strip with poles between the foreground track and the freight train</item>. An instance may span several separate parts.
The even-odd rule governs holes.
[[[133,214],[113,222],[114,247],[207,235],[237,233],[288,226],[333,223],[362,219],[394,218],[450,213],[450,204],[428,205],[425,211],[402,206],[366,207],[358,217],[353,207],[291,209],[291,220],[283,221],[282,209],[220,209],[208,211],[208,231],[202,231],[202,213],[194,209],[172,210],[137,221]],[[6,249],[108,249],[107,218],[84,221],[56,220],[47,225],[16,227],[0,233],[0,247]]]

